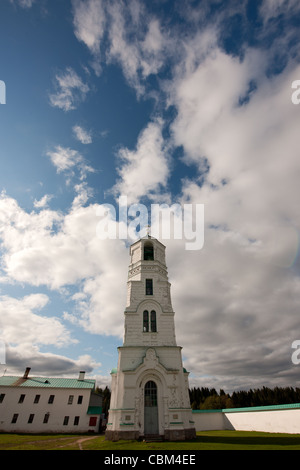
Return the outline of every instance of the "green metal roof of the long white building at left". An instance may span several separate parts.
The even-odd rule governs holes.
[[[0,386],[8,387],[43,387],[43,388],[95,388],[96,381],[92,379],[78,380],[63,377],[22,377],[3,376],[0,377]]]

